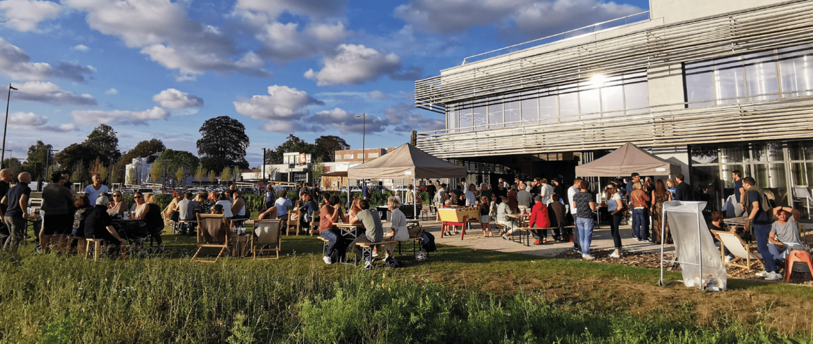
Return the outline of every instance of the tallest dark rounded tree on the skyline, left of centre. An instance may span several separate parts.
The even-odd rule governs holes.
[[[200,128],[198,154],[207,169],[223,170],[227,166],[248,168],[246,148],[250,141],[246,127],[237,119],[228,116],[209,118]]]

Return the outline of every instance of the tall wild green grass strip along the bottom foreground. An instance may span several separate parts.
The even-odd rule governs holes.
[[[3,258],[0,342],[760,342],[765,331],[560,308],[541,290],[447,291],[318,258]]]

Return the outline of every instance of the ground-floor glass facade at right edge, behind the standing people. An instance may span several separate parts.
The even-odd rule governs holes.
[[[813,140],[767,141],[751,144],[708,144],[690,147],[692,183],[701,200],[720,210],[733,194],[731,173],[740,170],[751,176],[765,191],[771,191],[776,204],[799,209],[810,215],[807,199],[813,187]]]

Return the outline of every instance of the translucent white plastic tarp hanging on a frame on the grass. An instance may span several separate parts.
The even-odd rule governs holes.
[[[663,204],[663,213],[669,221],[669,230],[675,241],[675,260],[681,262],[685,286],[698,287],[705,283],[725,290],[728,277],[720,260],[720,250],[711,239],[711,232],[702,217],[702,209],[705,208],[706,202],[672,200]],[[693,264],[702,264],[702,276],[700,266]]]

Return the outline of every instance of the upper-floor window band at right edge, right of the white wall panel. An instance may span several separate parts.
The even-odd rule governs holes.
[[[813,95],[810,44],[685,63],[684,69],[687,107]]]

